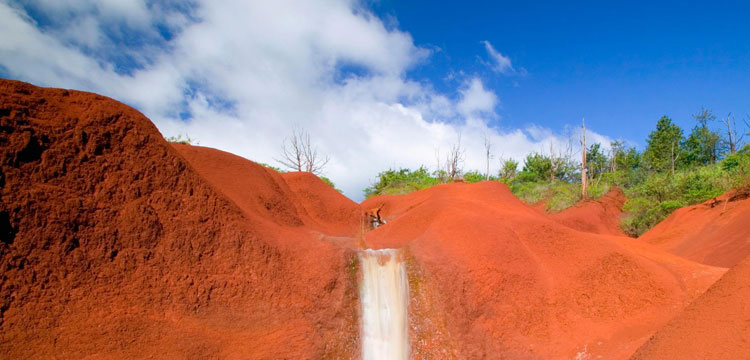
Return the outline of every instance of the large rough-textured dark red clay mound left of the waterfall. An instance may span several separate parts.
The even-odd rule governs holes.
[[[7,80],[0,156],[1,358],[356,356],[356,255],[278,175],[206,180],[137,111]]]

